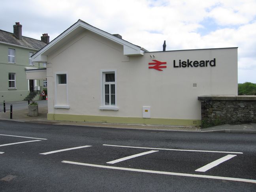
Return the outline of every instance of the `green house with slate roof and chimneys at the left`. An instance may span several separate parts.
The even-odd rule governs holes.
[[[0,30],[0,102],[33,99],[47,88],[43,77],[28,77],[30,70],[46,70],[46,64],[32,62],[31,56],[49,43],[43,34],[41,41],[22,36],[22,25],[13,25],[13,33]]]

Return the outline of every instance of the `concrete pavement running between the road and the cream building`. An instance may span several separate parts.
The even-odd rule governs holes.
[[[13,102],[21,105],[22,102]],[[24,102],[23,102],[24,103]],[[22,104],[23,104],[22,103]],[[38,117],[29,117],[27,105],[24,107],[13,107],[13,119],[10,119],[9,108],[6,113],[2,110],[0,112],[0,120],[14,120],[20,122],[36,122],[43,124],[59,124],[59,125],[76,125],[76,126],[92,126],[92,127],[106,127],[106,128],[130,128],[130,129],[147,129],[147,130],[170,130],[170,131],[190,131],[190,132],[226,132],[226,133],[256,133],[256,123],[239,124],[239,125],[219,125],[210,128],[201,129],[194,126],[156,126],[156,125],[137,125],[137,124],[111,124],[98,122],[75,122],[75,121],[58,121],[47,120],[47,101],[39,101]],[[2,108],[3,106],[1,106]]]

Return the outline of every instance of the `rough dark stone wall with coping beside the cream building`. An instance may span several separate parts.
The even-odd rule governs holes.
[[[201,127],[256,122],[256,96],[199,96]]]

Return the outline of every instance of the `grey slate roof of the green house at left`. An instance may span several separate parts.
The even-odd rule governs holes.
[[[18,40],[17,38],[15,38],[13,33],[3,31],[3,30],[0,30],[0,43],[24,47],[27,49],[35,49],[35,50],[40,50],[45,45],[47,45],[43,41],[35,40],[35,39],[24,37],[24,36],[22,36],[22,40]]]

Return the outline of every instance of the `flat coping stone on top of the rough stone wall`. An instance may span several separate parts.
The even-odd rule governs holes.
[[[255,101],[256,95],[204,95],[198,96],[198,100]]]

